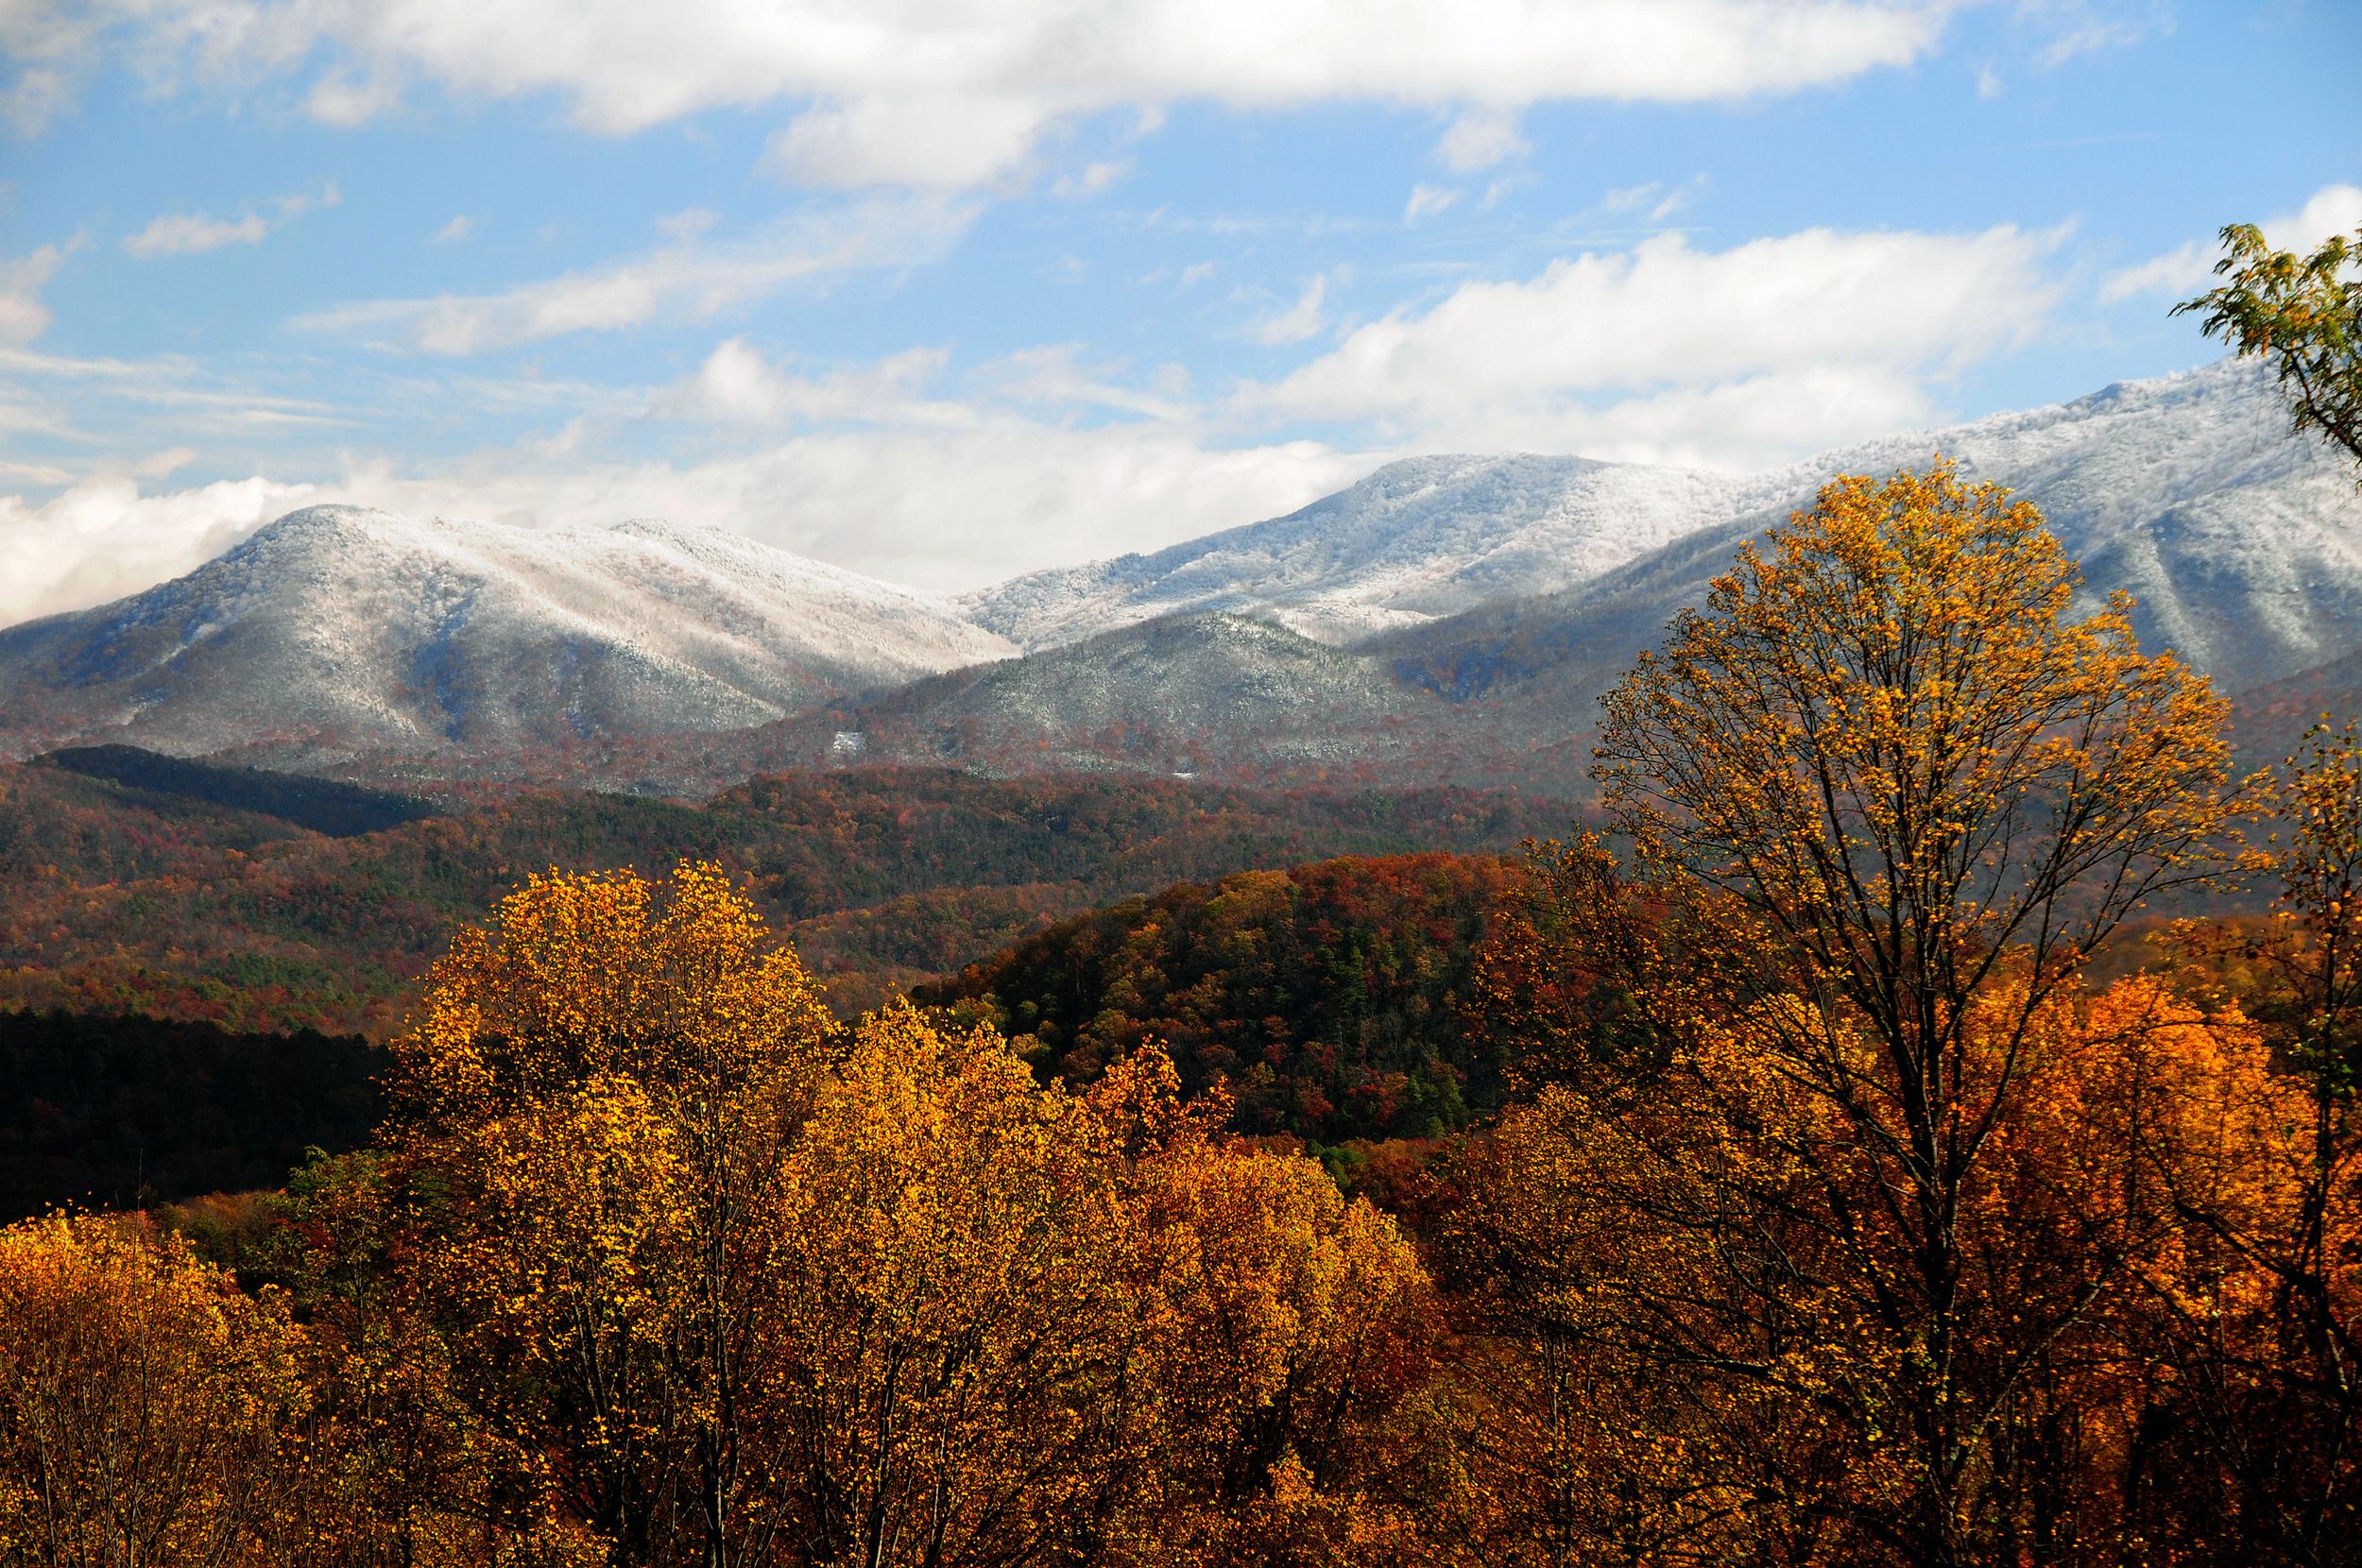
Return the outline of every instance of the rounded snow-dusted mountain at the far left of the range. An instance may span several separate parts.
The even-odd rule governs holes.
[[[933,595],[735,534],[321,505],[149,593],[0,631],[0,737],[515,751],[758,725],[1009,652]]]

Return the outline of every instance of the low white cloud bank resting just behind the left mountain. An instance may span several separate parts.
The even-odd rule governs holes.
[[[0,375],[9,373],[132,394],[187,366],[0,349]],[[0,623],[177,576],[321,501],[520,524],[664,515],[895,581],[971,588],[1105,555],[1117,536],[1124,548],[1157,548],[1287,512],[1386,456],[1214,430],[1181,366],[1134,375],[1082,345],[971,366],[957,394],[947,380],[942,347],[810,364],[725,338],[680,380],[624,397],[439,371],[371,383],[359,394],[371,404],[439,387],[446,404],[557,420],[430,465],[364,449],[326,463],[260,460],[246,479],[158,491],[191,460],[220,463],[222,444],[208,442],[205,456],[135,453],[71,477],[57,463],[26,463],[9,472],[19,486],[66,489],[0,496],[0,560],[24,562],[0,581]],[[614,456],[626,451],[666,456]]]

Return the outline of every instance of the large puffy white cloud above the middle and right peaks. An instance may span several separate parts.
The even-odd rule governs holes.
[[[1389,444],[1594,451],[1613,437],[1623,453],[1665,453],[1684,420],[1708,420],[1684,451],[1802,456],[1923,418],[1930,380],[2036,335],[2057,300],[2043,272],[2057,241],[1807,229],[1691,250],[1660,234],[1396,309],[1290,375],[1245,383],[1231,411],[1368,423]]]

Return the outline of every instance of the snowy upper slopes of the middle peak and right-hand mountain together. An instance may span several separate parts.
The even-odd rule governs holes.
[[[2138,593],[2161,640],[2199,661],[2279,666],[2348,635],[2362,588],[2350,486],[2289,437],[2263,371],[2234,361],[1748,477],[1410,458],[1287,517],[1037,571],[961,605],[1027,649],[1176,609],[1261,614],[1330,642],[1408,635],[1488,602],[1580,595],[1682,541],[1736,541],[1809,505],[1835,472],[1892,472],[1934,453],[2038,501],[2093,581]],[[2225,583],[2237,586],[2234,616],[2223,614]]]

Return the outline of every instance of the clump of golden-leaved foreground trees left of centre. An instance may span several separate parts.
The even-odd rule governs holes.
[[[416,1561],[468,1525],[553,1563],[1431,1556],[1384,1443],[1424,1270],[1162,1048],[1077,1093],[907,1006],[841,1030],[680,867],[534,878],[397,1053],[309,1268]],[[402,1301],[345,1282],[371,1233]]]

